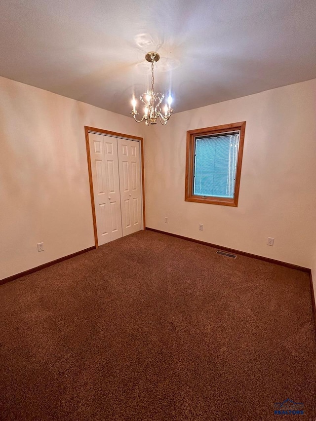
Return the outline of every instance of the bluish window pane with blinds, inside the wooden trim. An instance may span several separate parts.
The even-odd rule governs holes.
[[[239,134],[196,139],[193,194],[234,197]]]

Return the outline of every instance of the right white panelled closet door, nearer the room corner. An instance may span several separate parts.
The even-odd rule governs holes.
[[[142,229],[139,142],[118,138],[118,166],[124,236]]]

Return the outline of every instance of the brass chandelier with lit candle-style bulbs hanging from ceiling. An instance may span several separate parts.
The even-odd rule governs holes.
[[[157,119],[159,119],[161,124],[165,125],[174,110],[171,108],[172,98],[169,95],[167,104],[164,106],[164,109],[162,112],[160,108],[160,104],[164,98],[164,95],[161,92],[156,93],[154,91],[154,63],[155,61],[159,60],[160,56],[158,53],[151,51],[150,53],[146,54],[145,58],[147,61],[152,63],[152,89],[143,93],[143,95],[141,95],[140,97],[140,100],[145,105],[143,117],[140,120],[137,120],[136,118],[136,115],[138,115],[138,112],[136,110],[135,98],[132,99],[133,110],[131,111],[130,114],[133,115],[137,123],[141,123],[143,120],[145,120],[146,126],[149,126],[149,124],[157,124]]]

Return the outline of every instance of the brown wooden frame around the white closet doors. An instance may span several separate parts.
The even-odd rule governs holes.
[[[99,244],[98,244],[97,220],[96,220],[96,215],[95,215],[95,203],[94,203],[93,182],[92,182],[89,132],[95,132],[101,135],[120,137],[120,138],[125,138],[125,139],[130,139],[130,140],[135,139],[139,141],[140,151],[141,151],[141,172],[142,172],[143,230],[145,230],[145,227],[146,227],[146,224],[145,224],[144,138],[138,137],[138,136],[132,136],[132,135],[124,134],[124,133],[111,132],[110,130],[97,129],[96,127],[84,126],[85,146],[87,150],[87,160],[88,160],[94,240],[95,240],[95,247],[98,248]]]

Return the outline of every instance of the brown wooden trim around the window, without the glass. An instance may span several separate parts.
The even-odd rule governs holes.
[[[224,206],[236,206],[236,207],[238,206],[245,127],[246,127],[246,122],[241,121],[239,123],[224,124],[221,126],[205,127],[203,129],[187,131],[185,201],[197,202],[197,203],[211,203],[214,205],[224,205]],[[206,136],[206,135],[212,135],[212,134],[222,133],[222,132],[234,132],[237,130],[240,131],[240,135],[239,135],[239,148],[238,148],[238,157],[237,157],[234,197],[233,198],[214,197],[214,196],[203,197],[203,196],[198,196],[197,194],[193,194],[195,138],[197,136],[202,136],[202,135]]]

